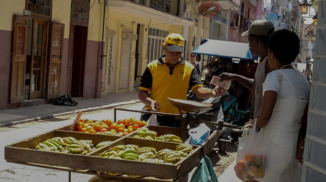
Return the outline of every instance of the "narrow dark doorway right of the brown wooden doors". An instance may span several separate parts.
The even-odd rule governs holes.
[[[74,25],[71,30],[73,31],[73,43],[70,94],[74,97],[83,97],[88,28]]]

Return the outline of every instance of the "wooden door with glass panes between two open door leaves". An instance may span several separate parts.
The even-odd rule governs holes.
[[[47,21],[33,19],[30,99],[43,97]]]

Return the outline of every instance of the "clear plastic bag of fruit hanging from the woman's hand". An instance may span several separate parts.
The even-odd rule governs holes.
[[[239,137],[239,145],[234,170],[242,181],[264,177],[265,156],[262,137],[256,130],[256,120],[252,128],[244,129]]]

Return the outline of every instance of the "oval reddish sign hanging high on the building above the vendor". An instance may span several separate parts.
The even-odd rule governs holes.
[[[205,17],[215,17],[221,15],[222,7],[215,2],[205,2],[202,3],[198,8],[198,14]]]

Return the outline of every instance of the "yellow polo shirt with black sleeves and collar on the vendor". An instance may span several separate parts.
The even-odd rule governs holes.
[[[140,89],[149,91],[149,97],[161,105],[159,112],[172,114],[180,112],[167,97],[185,100],[188,88],[193,90],[199,86],[202,86],[202,82],[191,63],[180,59],[172,68],[164,62],[163,57],[147,65],[140,83]],[[150,109],[148,105],[146,108]]]

